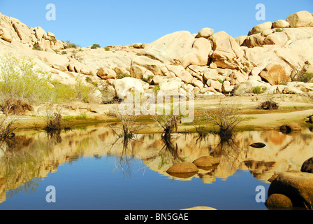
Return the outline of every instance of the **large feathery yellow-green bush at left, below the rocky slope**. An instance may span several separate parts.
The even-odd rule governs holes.
[[[8,99],[10,102],[20,100],[18,103],[20,105],[43,102],[60,104],[73,100],[88,102],[89,96],[95,90],[93,85],[82,81],[80,76],[76,78],[75,85],[66,85],[52,80],[48,72],[36,69],[35,64],[29,59],[7,56],[1,61],[0,100],[4,107]]]

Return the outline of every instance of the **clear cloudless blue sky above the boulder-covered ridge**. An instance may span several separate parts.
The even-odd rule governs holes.
[[[48,3],[56,20],[46,20]],[[265,6],[265,21],[256,20],[256,5]],[[300,10],[313,13],[312,0],[0,0],[0,12],[29,27],[43,27],[61,41],[87,47],[151,43],[174,31],[198,33],[203,27],[247,35],[262,22],[283,19]]]

